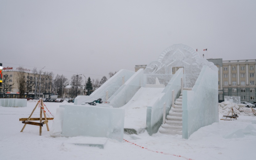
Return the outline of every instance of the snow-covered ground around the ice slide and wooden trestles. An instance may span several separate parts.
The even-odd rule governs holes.
[[[54,115],[61,103],[45,104]],[[24,131],[20,132],[24,124],[19,118],[29,117],[35,105],[36,102],[28,102],[27,107],[0,107],[0,159],[255,159],[256,116],[252,115],[250,109],[238,107],[237,120],[219,120],[200,128],[188,139],[161,133],[149,136],[144,132],[139,135],[124,135],[124,139],[129,142],[108,139],[104,149],[100,149],[68,143],[74,137],[50,137],[45,125],[41,136],[39,126],[34,125],[27,125]],[[219,105],[219,119],[228,114],[230,109],[227,105]],[[32,117],[39,117],[39,108]],[[49,121],[50,129],[51,126],[52,121]]]

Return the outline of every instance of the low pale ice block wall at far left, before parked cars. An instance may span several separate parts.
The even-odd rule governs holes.
[[[1,98],[0,106],[2,106],[2,107],[27,107],[27,99]]]

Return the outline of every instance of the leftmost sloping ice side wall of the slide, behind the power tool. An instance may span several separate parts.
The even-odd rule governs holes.
[[[102,101],[106,101],[107,91],[108,97],[112,96],[123,85],[122,77],[124,77],[124,81],[126,82],[134,74],[134,71],[121,69],[114,76],[109,78],[104,84],[102,84],[101,87],[96,89],[90,96],[77,96],[74,101],[74,105],[81,105],[85,102],[92,102],[94,100],[97,100],[98,98],[101,98]]]

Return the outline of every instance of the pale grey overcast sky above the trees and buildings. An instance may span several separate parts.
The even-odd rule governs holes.
[[[207,58],[256,59],[255,29],[255,0],[1,0],[0,63],[101,79],[179,43]]]

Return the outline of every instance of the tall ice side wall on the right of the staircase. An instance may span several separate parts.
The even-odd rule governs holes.
[[[218,69],[203,66],[192,91],[183,91],[182,137],[218,122]]]

